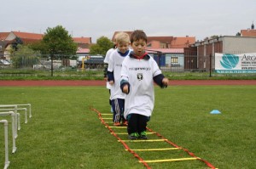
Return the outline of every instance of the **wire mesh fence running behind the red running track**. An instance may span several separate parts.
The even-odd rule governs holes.
[[[204,72],[212,76],[215,73],[215,56],[211,55],[183,55],[183,54],[160,54],[154,55],[155,61],[162,71],[171,73],[193,73]],[[50,76],[51,60],[44,55],[44,58],[39,56],[26,57],[22,56],[16,59],[15,63],[10,65],[0,64],[0,77],[1,76]],[[20,71],[22,71],[20,73]],[[58,59],[53,60],[53,71],[57,76],[84,76],[83,69],[78,66],[77,60],[72,59]],[[86,68],[87,72],[99,71],[102,72],[103,68],[96,66],[93,69]],[[9,73],[6,73],[9,72]],[[103,73],[102,73],[103,75]],[[102,76],[96,75],[96,76]],[[205,75],[204,75],[205,76]],[[217,75],[216,76],[223,76]],[[236,75],[229,75],[236,76]],[[241,76],[241,75],[239,75]],[[255,76],[255,74],[243,74],[242,76]]]

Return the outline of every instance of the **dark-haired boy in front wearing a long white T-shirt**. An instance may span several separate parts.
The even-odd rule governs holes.
[[[133,31],[131,48],[122,65],[120,87],[125,96],[125,119],[130,139],[148,139],[147,122],[154,109],[154,82],[167,87],[168,79],[155,60],[145,52],[147,36],[143,31]]]

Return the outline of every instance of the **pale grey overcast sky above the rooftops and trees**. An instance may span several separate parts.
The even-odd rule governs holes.
[[[235,36],[256,26],[256,0],[12,0],[2,1],[0,32],[44,33],[62,25],[73,37],[112,38],[140,29],[148,37]],[[256,29],[256,28],[255,28]]]

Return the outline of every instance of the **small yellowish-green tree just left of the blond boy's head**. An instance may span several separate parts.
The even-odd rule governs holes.
[[[90,54],[100,54],[105,56],[109,48],[113,48],[113,42],[108,37],[100,37],[96,44],[90,46]]]

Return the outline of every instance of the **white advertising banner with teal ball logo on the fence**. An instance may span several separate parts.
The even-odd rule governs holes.
[[[256,53],[215,53],[215,70],[217,73],[256,73]]]

